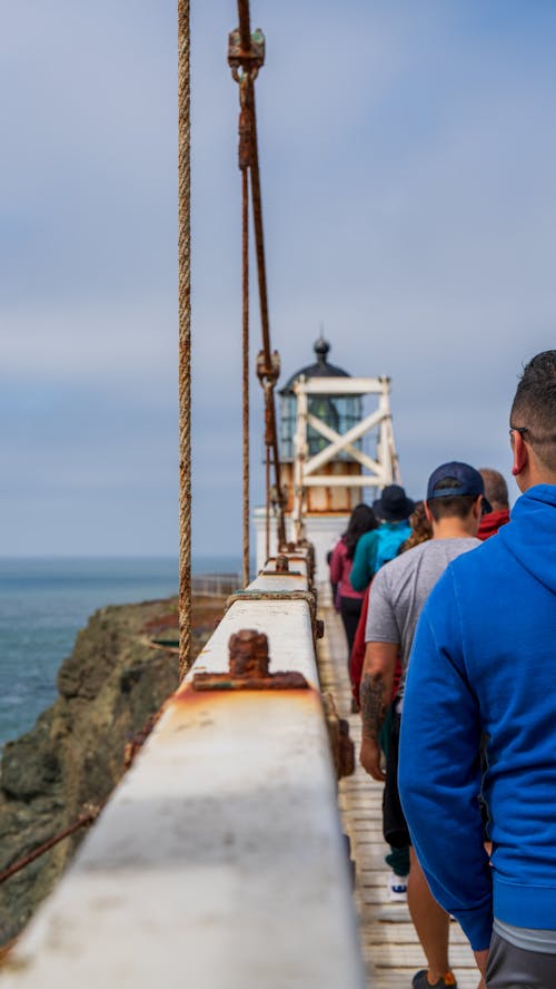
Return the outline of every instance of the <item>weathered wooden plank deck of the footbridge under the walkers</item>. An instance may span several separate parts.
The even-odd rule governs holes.
[[[360,718],[350,713],[341,620],[331,608],[325,610],[324,618],[325,638],[319,643],[321,686],[334,695],[338,714],[348,718],[356,746],[356,772],[340,781],[338,800],[356,862],[355,898],[368,985],[369,989],[409,989],[415,972],[426,966],[425,956],[407,905],[388,902],[389,869],[384,858],[388,848],[381,832],[383,785],[371,780],[358,763]],[[476,989],[479,973],[467,939],[456,922],[450,924],[450,961],[459,989]]]

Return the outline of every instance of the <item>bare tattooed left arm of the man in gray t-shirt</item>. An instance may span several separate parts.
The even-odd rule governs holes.
[[[378,735],[388,711],[396,672],[397,643],[367,643],[359,699],[361,704],[363,767],[375,780],[385,780],[380,768]]]

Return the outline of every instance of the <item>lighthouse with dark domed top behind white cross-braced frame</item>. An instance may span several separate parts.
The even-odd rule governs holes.
[[[390,414],[390,379],[354,378],[328,361],[320,336],[316,361],[290,375],[280,390],[281,487],[287,538],[315,546],[316,580],[328,594],[327,555],[360,501],[373,503],[399,481]],[[275,519],[256,508],[257,569],[277,551]]]

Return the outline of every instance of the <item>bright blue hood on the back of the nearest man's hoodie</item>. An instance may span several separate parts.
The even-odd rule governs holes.
[[[524,570],[556,594],[556,484],[535,484],[522,494],[497,538]]]

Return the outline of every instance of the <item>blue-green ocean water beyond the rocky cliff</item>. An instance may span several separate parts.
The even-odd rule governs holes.
[[[239,572],[232,557],[193,559],[193,574]],[[178,561],[0,559],[0,750],[56,699],[56,676],[98,608],[178,593]]]

